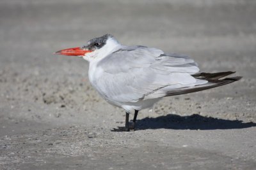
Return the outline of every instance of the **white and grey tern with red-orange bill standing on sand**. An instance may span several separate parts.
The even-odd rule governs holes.
[[[93,38],[83,47],[56,52],[75,55],[90,62],[89,80],[108,103],[123,108],[125,127],[134,129],[138,111],[149,108],[162,97],[211,89],[240,80],[226,78],[235,72],[201,73],[188,55],[164,53],[147,46],[125,46],[110,34]],[[129,113],[134,112],[129,125]]]

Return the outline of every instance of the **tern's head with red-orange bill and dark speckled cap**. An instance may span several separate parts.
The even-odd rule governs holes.
[[[116,41],[111,34],[106,34],[99,38],[91,39],[88,41],[87,45],[83,45],[82,47],[67,48],[55,53],[83,57],[85,60],[91,61],[93,59],[106,57],[106,55],[119,45],[118,41]]]

